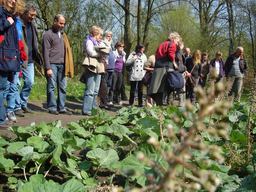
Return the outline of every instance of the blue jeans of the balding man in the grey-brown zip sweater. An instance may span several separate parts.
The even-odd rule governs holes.
[[[51,64],[51,70],[53,71],[52,77],[46,77],[47,80],[47,109],[57,110],[59,112],[66,111],[64,107],[66,101],[66,88],[67,77],[65,75],[65,68],[63,64]],[[57,83],[57,103],[54,95],[54,90]]]

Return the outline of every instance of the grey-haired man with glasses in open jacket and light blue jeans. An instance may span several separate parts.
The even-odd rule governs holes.
[[[16,100],[14,113],[19,117],[24,117],[24,113],[33,113],[28,108],[28,98],[31,89],[34,84],[34,60],[42,65],[42,58],[38,51],[38,31],[36,29],[36,23],[33,21],[36,16],[37,8],[32,3],[26,3],[25,11],[19,16],[19,20],[22,24],[22,42],[25,46],[25,52],[28,56],[28,60],[22,64],[22,75],[24,85],[20,92],[20,102]],[[22,109],[22,110],[21,110]]]

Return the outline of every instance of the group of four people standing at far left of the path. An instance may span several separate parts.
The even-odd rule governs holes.
[[[0,129],[7,129],[29,109],[28,98],[34,83],[34,61],[43,64],[38,51],[37,8],[22,0],[0,0]],[[42,43],[42,55],[47,79],[47,108],[51,114],[71,115],[64,107],[66,75],[73,77],[74,66],[68,39],[62,28],[65,18],[56,15]],[[23,87],[21,86],[23,77]],[[57,102],[54,90],[57,84]],[[4,101],[7,100],[7,106]]]

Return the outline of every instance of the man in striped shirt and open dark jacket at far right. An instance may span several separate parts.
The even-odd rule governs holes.
[[[247,60],[243,56],[243,47],[239,46],[236,48],[236,52],[234,54],[228,56],[224,65],[226,77],[235,78],[228,96],[232,96],[234,90],[237,102],[240,102],[239,92],[242,90],[243,78],[248,71],[248,68]]]

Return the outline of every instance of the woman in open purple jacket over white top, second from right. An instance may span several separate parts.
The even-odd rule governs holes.
[[[221,59],[222,53],[220,51],[218,51],[215,54],[215,56],[216,56],[216,58],[211,60],[209,66],[208,66],[208,71],[210,71],[211,66],[212,66],[212,68],[216,69],[216,72],[218,74],[218,78],[216,78],[216,83],[217,83],[218,81],[223,80],[223,76],[225,74],[225,72],[223,70],[225,62]]]

